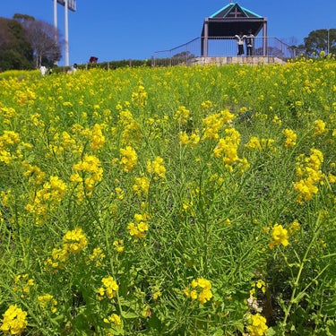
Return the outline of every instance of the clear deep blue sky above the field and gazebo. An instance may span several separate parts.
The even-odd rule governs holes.
[[[267,18],[268,36],[301,44],[312,30],[336,28],[336,0],[240,0],[246,9]],[[229,0],[113,1],[77,0],[68,13],[70,64],[151,58],[201,35],[205,17]],[[53,0],[0,0],[0,16],[24,13],[54,24]],[[58,28],[65,32],[64,7],[57,5]],[[59,65],[64,65],[64,58]]]

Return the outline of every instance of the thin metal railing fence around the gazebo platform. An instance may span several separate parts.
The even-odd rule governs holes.
[[[156,51],[152,56],[152,65],[192,65],[201,56],[237,56],[237,40],[235,38],[208,39],[207,55],[202,55],[204,38],[193,39],[181,46],[169,50]],[[246,53],[246,46],[245,53]],[[254,38],[253,56],[277,57],[286,60],[295,57],[296,50],[277,38]],[[244,54],[243,56],[246,56]]]

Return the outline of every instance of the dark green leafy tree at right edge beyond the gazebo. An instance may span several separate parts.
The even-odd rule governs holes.
[[[319,55],[321,51],[336,54],[336,29],[313,30],[304,41],[308,56]]]

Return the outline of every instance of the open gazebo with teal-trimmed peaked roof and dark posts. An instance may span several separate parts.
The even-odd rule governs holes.
[[[209,39],[232,38],[251,30],[256,37],[263,30],[263,56],[267,50],[267,19],[237,3],[227,4],[204,19],[201,39],[201,56],[208,56]]]

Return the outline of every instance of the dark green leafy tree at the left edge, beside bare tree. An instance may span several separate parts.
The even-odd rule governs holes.
[[[32,68],[32,48],[22,24],[0,18],[0,71]]]

